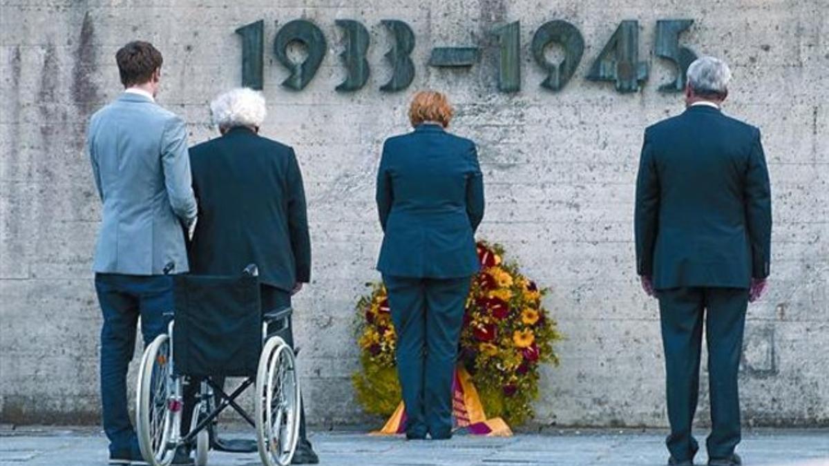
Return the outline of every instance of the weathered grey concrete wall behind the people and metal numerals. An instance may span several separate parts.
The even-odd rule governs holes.
[[[290,92],[279,85],[287,73],[271,44],[274,22],[299,17],[322,27],[329,50],[308,88]],[[83,141],[90,112],[119,94],[114,52],[134,38],[162,50],[159,100],[186,117],[197,143],[216,135],[207,102],[240,84],[235,28],[264,18],[269,118],[262,132],[297,149],[310,201],[314,277],[297,308],[311,420],[368,420],[349,376],[357,368],[353,303],[362,284],[378,278],[376,165],[383,139],[408,129],[411,93],[433,87],[457,104],[453,131],[480,145],[481,236],[502,242],[531,278],[552,287],[545,304],[568,337],[558,347],[560,368],[544,371],[537,421],[666,425],[657,305],[638,289],[634,271],[633,182],[642,129],[682,110],[679,95],[657,91],[672,70],[652,51],[656,20],[682,17],[696,20],[683,44],[732,66],[726,111],[763,129],[773,183],[773,276],[768,295],[749,308],[744,420],[827,425],[827,0],[3,0],[2,422],[98,419],[100,313],[90,255],[100,206]],[[371,31],[371,79],[348,95],[333,89],[344,77],[337,18]],[[390,73],[385,18],[408,22],[417,36],[414,83],[397,94],[378,90]],[[552,19],[574,23],[586,42],[560,93],[541,89],[544,75],[529,51],[533,32]],[[632,95],[584,79],[624,19],[638,19],[640,57],[652,66]],[[522,90],[500,94],[488,32],[519,20]],[[433,46],[475,44],[488,48],[471,70],[426,66]],[[703,394],[707,411],[705,387]]]

